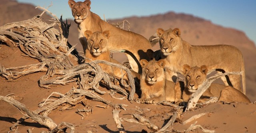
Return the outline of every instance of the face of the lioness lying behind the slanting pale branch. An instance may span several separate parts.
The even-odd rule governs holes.
[[[198,87],[202,85],[204,80],[206,80],[206,75],[208,72],[208,67],[203,65],[201,67],[194,66],[191,67],[185,64],[183,66],[183,71],[186,78],[186,87],[191,93],[195,93]]]

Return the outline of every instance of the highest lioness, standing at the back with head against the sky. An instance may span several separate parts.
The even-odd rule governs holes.
[[[91,30],[92,32],[109,30],[112,33],[112,38],[108,40],[109,50],[111,52],[125,52],[132,69],[141,73],[142,68],[139,61],[141,59],[149,60],[146,51],[151,49],[151,44],[146,38],[103,21],[97,14],[90,11],[90,0],[85,0],[84,2],[68,0],[68,4],[72,10],[74,21],[78,24],[78,38],[84,52],[86,52],[87,48],[87,38],[84,38],[86,30]]]

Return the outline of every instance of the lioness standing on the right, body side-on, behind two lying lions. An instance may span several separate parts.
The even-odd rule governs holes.
[[[182,66],[208,66],[208,73],[216,70],[218,72],[245,71],[244,59],[238,48],[230,45],[212,45],[212,46],[193,46],[182,40],[180,29],[169,29],[164,31],[157,29],[159,36],[160,49],[166,58],[166,69],[174,73],[184,74]],[[169,80],[170,77],[168,77]],[[225,85],[234,88],[246,94],[245,73],[242,74],[243,90],[240,86],[240,75],[228,75],[221,78]]]

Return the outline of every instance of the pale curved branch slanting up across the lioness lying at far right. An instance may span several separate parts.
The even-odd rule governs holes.
[[[198,102],[198,99],[202,96],[202,94],[204,93],[204,91],[206,91],[206,89],[208,89],[211,85],[211,83],[222,77],[225,75],[230,75],[230,74],[242,74],[243,71],[240,72],[226,72],[226,73],[217,73],[215,75],[213,75],[212,77],[209,77],[208,79],[206,79],[202,85],[200,87],[198,87],[198,90],[192,94],[190,100],[188,101],[188,105],[186,107],[185,111],[188,111],[190,109],[193,109],[194,107],[196,107],[196,103]]]

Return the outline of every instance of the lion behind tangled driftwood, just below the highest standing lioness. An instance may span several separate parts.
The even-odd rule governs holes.
[[[115,64],[120,64],[117,60],[110,58],[110,51],[108,50],[108,40],[111,36],[109,30],[103,32],[92,32],[86,30],[84,36],[88,38],[88,47],[86,49],[85,57],[91,60],[105,60]],[[86,62],[90,62],[86,59]],[[128,79],[126,71],[120,71],[117,67],[112,67],[106,64],[99,64],[103,71],[111,76],[124,77]],[[135,78],[140,79],[140,74],[131,71]]]

